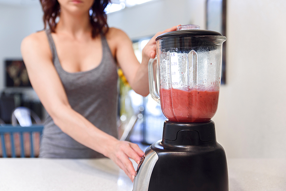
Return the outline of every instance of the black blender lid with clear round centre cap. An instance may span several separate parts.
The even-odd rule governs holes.
[[[182,36],[222,36],[221,33],[210,30],[201,30],[198,25],[181,25],[176,31],[166,32],[158,37],[156,41],[164,37],[182,37]]]

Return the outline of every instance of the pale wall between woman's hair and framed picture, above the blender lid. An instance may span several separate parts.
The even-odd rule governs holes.
[[[196,6],[193,6],[196,5]],[[108,15],[108,25],[125,31],[131,39],[153,36],[175,25],[205,28],[204,0],[154,0]]]

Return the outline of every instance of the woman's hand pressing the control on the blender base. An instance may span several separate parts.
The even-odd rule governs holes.
[[[113,140],[108,151],[109,153],[106,156],[115,162],[133,182],[135,170],[129,158],[139,164],[144,152],[137,144],[119,140]]]

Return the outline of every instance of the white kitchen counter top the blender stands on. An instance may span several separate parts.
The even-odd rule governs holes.
[[[286,190],[286,159],[227,162],[229,191]],[[132,191],[132,182],[107,158],[0,158],[0,190]]]

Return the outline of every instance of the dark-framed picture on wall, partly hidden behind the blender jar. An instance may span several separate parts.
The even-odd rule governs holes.
[[[227,0],[207,0],[206,1],[206,29],[217,31],[226,36],[226,1]],[[223,61],[221,71],[221,84],[226,83],[226,42],[223,43]]]

